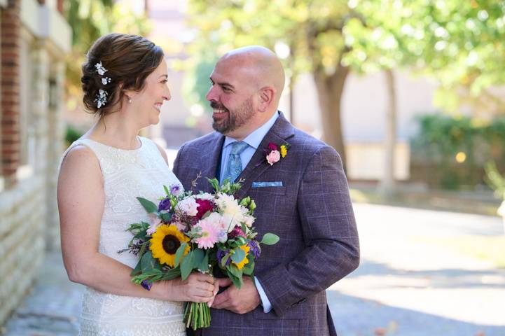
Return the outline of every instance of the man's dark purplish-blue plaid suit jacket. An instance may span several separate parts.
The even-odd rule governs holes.
[[[181,147],[174,173],[186,190],[199,172],[216,176],[223,142],[224,136],[213,132]],[[291,145],[272,166],[263,152],[270,142]],[[357,227],[340,156],[281,114],[238,179],[245,181],[236,196],[256,202],[258,237],[265,232],[280,237],[277,244],[262,246],[254,271],[272,311],[265,314],[261,305],[243,315],[211,309],[211,326],[195,334],[336,335],[324,290],[359,265]],[[251,188],[253,182],[277,181],[282,186]],[[197,190],[212,188],[200,179]]]

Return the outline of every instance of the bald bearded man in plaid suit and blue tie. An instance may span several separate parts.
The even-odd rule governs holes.
[[[221,279],[230,286],[216,296],[211,326],[196,334],[336,335],[324,290],[359,265],[340,156],[277,110],[284,69],[267,48],[226,53],[210,80],[216,132],[184,144],[174,173],[186,190],[199,172],[243,179],[236,196],[256,202],[258,237],[272,232],[280,241],[262,246],[254,279],[244,276],[240,290]],[[212,191],[198,181],[198,190]]]

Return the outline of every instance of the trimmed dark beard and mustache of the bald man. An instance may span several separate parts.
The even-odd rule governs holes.
[[[226,112],[224,118],[214,118],[214,122],[212,123],[212,128],[221,134],[228,134],[237,130],[237,128],[245,125],[251,118],[254,117],[254,109],[252,106],[252,98],[249,97],[246,99],[242,105],[237,107],[237,109],[230,111],[223,106],[223,104],[219,104],[218,102],[210,102],[210,106],[212,109],[221,109]]]

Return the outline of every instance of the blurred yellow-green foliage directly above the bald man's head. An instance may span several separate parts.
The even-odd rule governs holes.
[[[289,48],[282,62],[291,78],[312,69],[335,73],[347,50],[343,27],[354,14],[342,0],[191,0],[188,15],[198,35],[188,46],[194,56],[187,63],[185,92],[191,92],[186,97],[192,103],[206,106],[216,58],[244,45]]]

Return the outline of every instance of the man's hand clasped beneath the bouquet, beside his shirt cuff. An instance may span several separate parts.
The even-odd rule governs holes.
[[[219,279],[219,286],[230,285],[230,279]],[[237,314],[246,314],[260,304],[260,295],[254,282],[249,276],[244,276],[242,288],[238,289],[233,284],[223,293],[216,295],[216,300],[212,304],[214,309],[228,309]]]

